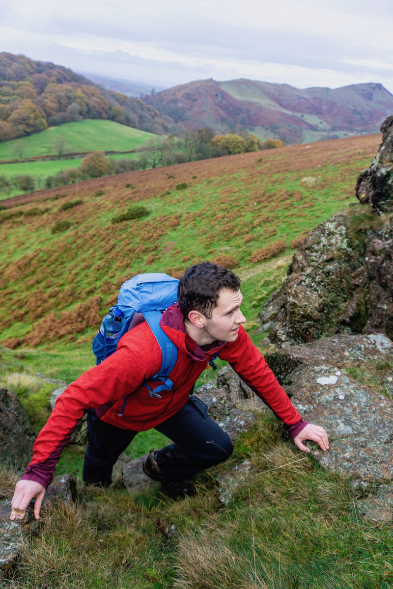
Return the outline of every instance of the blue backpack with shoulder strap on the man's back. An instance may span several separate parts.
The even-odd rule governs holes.
[[[100,331],[93,340],[93,353],[97,364],[108,358],[117,348],[117,344],[128,330],[146,320],[154,333],[163,355],[159,372],[151,380],[162,380],[152,391],[145,382],[151,396],[160,397],[161,391],[173,387],[168,378],[177,360],[177,348],[160,326],[161,311],[167,309],[177,300],[179,280],[167,274],[137,274],[124,282],[118,295],[117,304],[109,309],[101,323]]]

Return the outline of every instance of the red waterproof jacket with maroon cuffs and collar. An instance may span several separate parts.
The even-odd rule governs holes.
[[[140,323],[121,337],[113,355],[87,370],[59,396],[38,434],[32,461],[22,478],[47,488],[62,449],[87,409],[95,409],[106,423],[134,431],[146,431],[170,418],[186,403],[215,352],[289,426],[293,437],[306,425],[242,326],[235,342],[214,342],[202,349],[187,335],[175,303],[163,313],[161,327],[178,348],[177,362],[169,375],[173,389],[160,392],[161,398],[157,398],[144,386],[160,370],[162,356],[150,327]],[[152,389],[158,384],[149,382]]]

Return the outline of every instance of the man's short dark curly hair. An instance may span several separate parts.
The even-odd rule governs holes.
[[[184,321],[189,320],[189,312],[193,310],[211,319],[221,289],[239,290],[239,276],[225,266],[217,266],[212,262],[202,262],[187,268],[177,290]]]

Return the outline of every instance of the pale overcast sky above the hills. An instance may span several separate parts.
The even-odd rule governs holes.
[[[392,0],[0,0],[0,51],[151,87],[250,78],[393,94]]]

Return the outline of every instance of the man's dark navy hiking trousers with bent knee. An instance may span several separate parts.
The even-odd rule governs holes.
[[[113,465],[138,432],[100,421],[94,409],[87,412],[87,427],[83,481],[108,487]],[[188,479],[223,462],[233,451],[229,435],[207,415],[206,404],[194,395],[180,411],[154,429],[173,441],[157,452],[157,464],[171,481]]]

